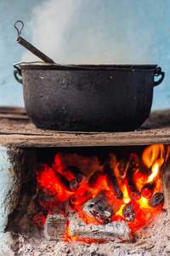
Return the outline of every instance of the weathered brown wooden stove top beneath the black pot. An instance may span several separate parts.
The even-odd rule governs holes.
[[[170,110],[150,113],[138,131],[129,132],[45,131],[29,119],[0,119],[0,144],[22,148],[170,144]]]

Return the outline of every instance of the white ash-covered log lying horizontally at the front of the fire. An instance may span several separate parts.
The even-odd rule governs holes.
[[[126,222],[113,221],[108,224],[86,224],[77,213],[67,215],[71,236],[89,240],[130,241],[130,229]]]

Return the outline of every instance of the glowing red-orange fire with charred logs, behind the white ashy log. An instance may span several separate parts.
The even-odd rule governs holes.
[[[163,145],[145,148],[141,159],[130,154],[129,160],[116,160],[116,155],[110,154],[104,162],[96,156],[58,153],[54,162],[38,166],[37,199],[48,214],[62,212],[66,216],[73,211],[86,224],[96,225],[126,221],[135,232],[161,211],[165,160]],[[45,219],[41,212],[33,221],[42,228]],[[65,239],[85,241],[71,237],[69,221]]]

